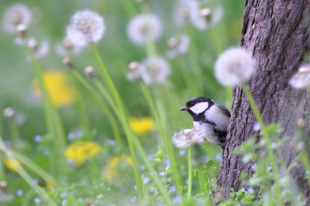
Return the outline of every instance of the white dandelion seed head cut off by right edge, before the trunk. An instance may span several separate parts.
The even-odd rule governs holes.
[[[310,86],[310,65],[303,65],[298,72],[290,79],[290,85],[297,89],[304,89]]]

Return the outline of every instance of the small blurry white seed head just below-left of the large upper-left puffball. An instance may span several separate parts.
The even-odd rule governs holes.
[[[65,37],[61,42],[55,44],[55,51],[59,56],[77,56],[82,52],[83,48],[73,45],[68,37]]]

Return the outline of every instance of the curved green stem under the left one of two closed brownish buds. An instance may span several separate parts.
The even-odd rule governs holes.
[[[108,105],[102,100],[102,98],[99,96],[95,88],[91,86],[91,84],[87,83],[86,80],[82,77],[80,73],[76,70],[71,70],[71,74],[88,90],[89,93],[97,100],[97,103],[100,105],[100,107],[104,110],[105,114],[108,117],[108,120],[111,124],[113,135],[115,138],[115,141],[118,145],[122,145],[122,139],[121,139],[121,133],[120,129],[118,127],[117,121],[114,117],[114,115],[111,112],[111,109],[108,107]]]

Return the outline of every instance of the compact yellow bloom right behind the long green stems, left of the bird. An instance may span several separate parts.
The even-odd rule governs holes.
[[[143,117],[143,118],[130,118],[129,124],[132,130],[137,134],[141,135],[148,131],[151,131],[155,127],[155,123],[152,118]]]

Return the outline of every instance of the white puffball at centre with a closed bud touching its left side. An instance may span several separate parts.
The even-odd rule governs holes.
[[[162,57],[148,57],[139,65],[141,78],[147,85],[162,83],[170,75],[170,65]]]

